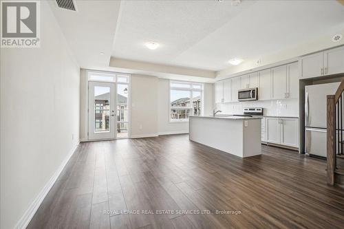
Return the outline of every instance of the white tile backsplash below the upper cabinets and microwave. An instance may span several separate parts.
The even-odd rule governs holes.
[[[248,102],[228,102],[216,104],[216,109],[222,114],[242,114],[244,107],[263,107],[264,116],[291,116],[299,117],[299,100],[264,100]]]

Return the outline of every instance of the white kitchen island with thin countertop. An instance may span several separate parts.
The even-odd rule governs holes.
[[[261,118],[190,116],[189,139],[239,157],[261,154]]]

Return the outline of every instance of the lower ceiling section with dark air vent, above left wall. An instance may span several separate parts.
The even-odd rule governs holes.
[[[80,67],[109,66],[120,1],[76,1],[77,12],[48,2]]]

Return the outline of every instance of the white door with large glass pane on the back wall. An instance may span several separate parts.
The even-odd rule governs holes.
[[[115,138],[115,90],[115,83],[89,81],[89,140],[103,140]]]

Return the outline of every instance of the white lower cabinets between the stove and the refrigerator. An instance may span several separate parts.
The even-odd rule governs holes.
[[[266,142],[299,147],[298,118],[266,118]]]

